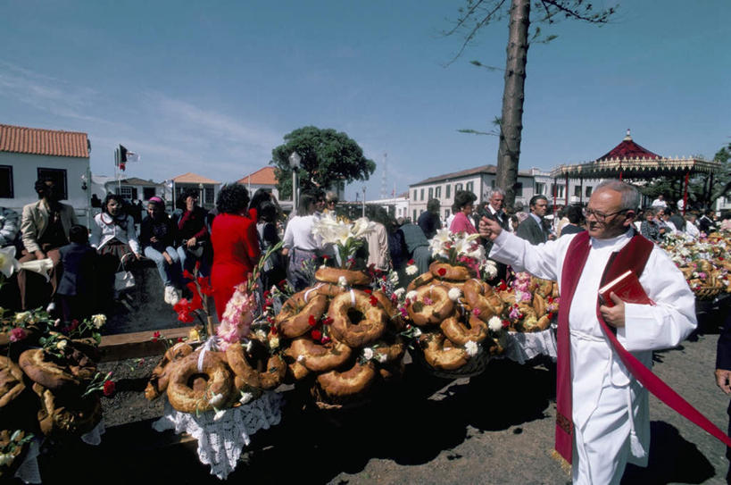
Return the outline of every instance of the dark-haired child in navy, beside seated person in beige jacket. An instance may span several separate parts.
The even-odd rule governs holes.
[[[97,256],[89,246],[89,233],[84,226],[71,226],[69,240],[59,249],[62,273],[56,295],[63,322],[80,322],[91,316],[94,309]]]

